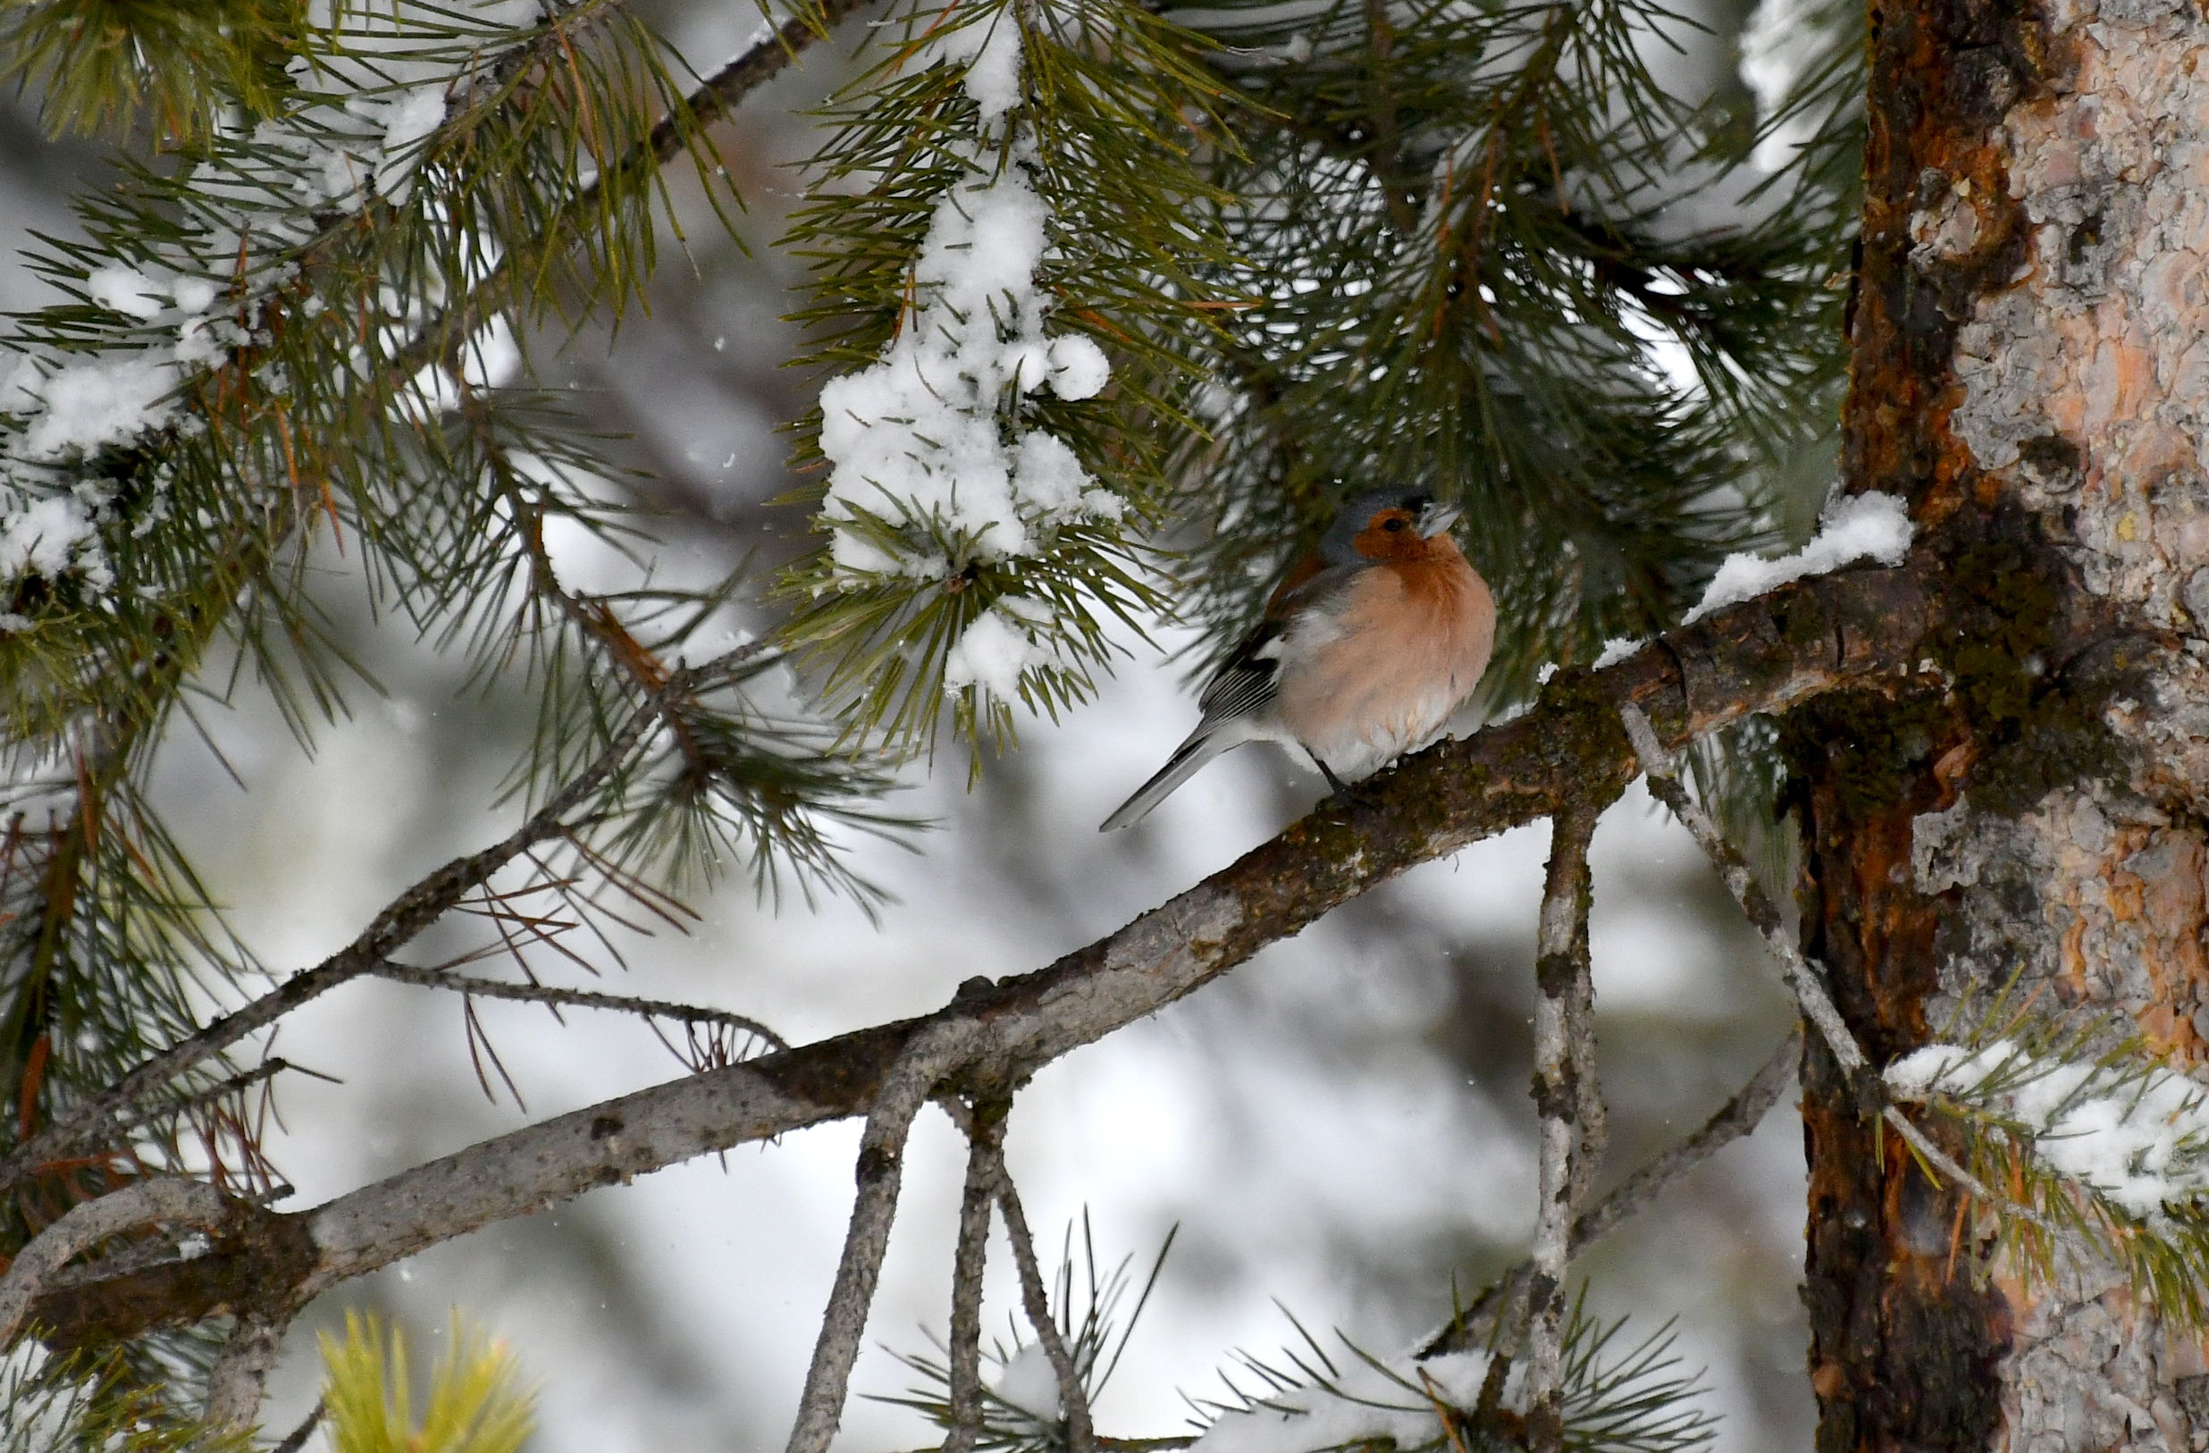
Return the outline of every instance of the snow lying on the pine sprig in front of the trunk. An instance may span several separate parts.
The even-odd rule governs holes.
[[[1886,1089],[1898,1100],[1948,1095],[2023,1126],[2041,1164],[2141,1219],[2209,1192],[2209,1089],[2171,1069],[2141,1080],[2039,1060],[2010,1040],[1926,1044],[1886,1067]]]

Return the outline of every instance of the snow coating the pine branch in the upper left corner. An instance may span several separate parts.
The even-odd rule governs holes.
[[[468,13],[316,0],[281,115],[216,135],[175,183],[148,181],[170,221],[95,214],[95,245],[49,261],[82,307],[33,316],[7,340],[15,358],[0,364],[0,590],[24,576],[71,576],[93,594],[115,585],[102,530],[157,528],[170,479],[157,468],[152,488],[133,492],[95,457],[161,428],[203,433],[192,380],[269,344],[263,305],[298,283],[305,250],[376,199],[402,203],[455,88],[524,51],[543,24],[539,0]],[[378,314],[406,307],[391,287],[382,300]],[[309,300],[305,318],[320,307]],[[276,400],[292,393],[281,369],[256,384]],[[29,627],[0,614],[0,629]]]

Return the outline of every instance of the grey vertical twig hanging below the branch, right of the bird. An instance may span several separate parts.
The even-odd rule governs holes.
[[[1526,1431],[1535,1453],[1564,1446],[1564,1272],[1573,1221],[1595,1177],[1604,1113],[1595,1084],[1595,987],[1588,976],[1588,839],[1595,802],[1573,802],[1551,830],[1533,1014],[1533,1102],[1542,1115],[1533,1274],[1526,1279]],[[1590,1109],[1593,1106],[1593,1109]]]

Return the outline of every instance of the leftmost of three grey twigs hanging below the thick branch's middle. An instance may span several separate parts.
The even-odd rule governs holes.
[[[850,1387],[850,1365],[859,1356],[866,1314],[875,1303],[881,1276],[881,1254],[890,1245],[890,1221],[897,1217],[897,1188],[903,1179],[906,1133],[943,1075],[974,1056],[981,1029],[974,1025],[932,1025],[912,1036],[881,1078],[875,1104],[859,1135],[859,1195],[853,1201],[850,1228],[844,1234],[844,1256],[822,1314],[822,1334],[813,1343],[813,1365],[797,1400],[797,1422],[791,1427],[789,1453],[826,1453],[844,1420],[844,1393]]]

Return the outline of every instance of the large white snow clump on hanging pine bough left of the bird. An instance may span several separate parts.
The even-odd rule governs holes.
[[[1124,515],[1060,435],[1023,417],[1043,389],[1096,397],[1111,364],[1091,338],[1045,331],[1051,298],[1038,283],[1054,214],[1029,177],[1038,141],[1016,110],[1018,9],[965,9],[919,53],[963,66],[976,130],[950,148],[965,174],[934,205],[910,309],[879,362],[822,389],[820,446],[833,464],[822,519],[839,585],[943,581],[976,561],[1038,556],[1063,526]],[[945,689],[1016,696],[1023,671],[1056,662],[1051,616],[1034,596],[998,596],[950,647]]]

